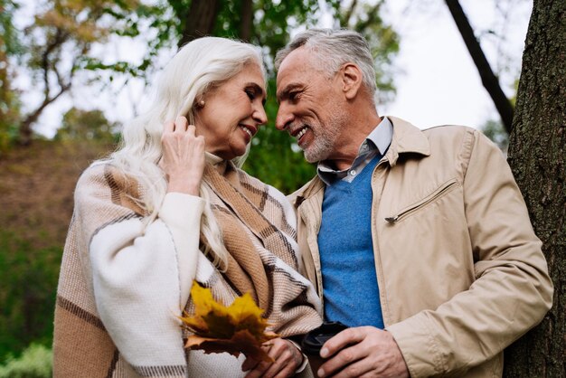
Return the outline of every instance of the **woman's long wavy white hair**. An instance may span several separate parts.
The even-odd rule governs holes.
[[[166,65],[150,108],[125,125],[122,140],[110,159],[124,175],[132,176],[146,189],[139,204],[149,215],[146,224],[156,219],[165,197],[167,182],[158,166],[162,156],[161,135],[168,120],[184,116],[194,125],[197,99],[238,74],[247,64],[265,69],[259,50],[249,44],[226,38],[203,37],[187,43]],[[247,156],[247,154],[245,155]],[[245,156],[234,159],[238,166]],[[201,219],[201,234],[207,241],[205,253],[211,253],[220,269],[228,263],[228,251],[222,232],[212,213],[212,189],[201,184],[200,195],[206,202]]]

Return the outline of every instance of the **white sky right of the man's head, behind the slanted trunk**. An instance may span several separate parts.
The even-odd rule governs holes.
[[[498,67],[509,60],[510,70],[501,71],[500,82],[510,97],[514,95],[514,81],[520,73],[532,4],[527,1],[508,7],[508,23],[501,30],[496,22],[501,15],[495,10],[496,1],[460,0],[460,4],[476,35],[489,28],[505,33],[506,40],[499,44],[489,34],[484,34],[480,41],[492,70],[499,71]],[[487,120],[498,119],[448,7],[443,1],[429,2],[434,3],[429,9],[413,9],[407,14],[403,13],[407,3],[389,3],[395,5],[391,9],[391,22],[399,25],[401,33],[396,65],[404,74],[395,80],[396,99],[383,109],[378,106],[380,114],[404,118],[420,128],[442,124],[481,128]],[[505,2],[499,5],[502,3]]]

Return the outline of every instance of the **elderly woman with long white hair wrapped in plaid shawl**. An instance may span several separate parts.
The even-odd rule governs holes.
[[[124,128],[118,151],[80,176],[54,376],[309,373],[285,338],[321,322],[315,291],[296,270],[295,214],[283,194],[239,168],[267,122],[265,97],[256,48],[195,40],[167,65],[156,100]],[[283,337],[266,345],[274,363],[184,349],[177,316],[193,313],[193,279],[225,305],[251,294]]]

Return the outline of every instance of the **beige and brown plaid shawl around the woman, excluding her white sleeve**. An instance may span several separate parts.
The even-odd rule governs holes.
[[[318,326],[320,303],[314,288],[297,273],[295,214],[283,194],[231,163],[223,175],[207,165],[203,180],[214,192],[212,209],[230,262],[221,272],[201,253],[195,279],[226,305],[250,292],[266,309],[270,330],[280,335],[299,335]],[[108,164],[92,165],[80,178],[55,307],[54,376],[185,377],[203,371],[210,376],[222,376],[222,372],[238,376],[241,359],[224,354],[184,351],[179,364],[128,364],[100,320],[93,295],[90,243],[110,228],[119,230],[127,222],[142,222],[146,213],[137,199],[143,194],[135,181]],[[191,299],[184,309],[193,312]],[[187,332],[182,331],[183,337]]]

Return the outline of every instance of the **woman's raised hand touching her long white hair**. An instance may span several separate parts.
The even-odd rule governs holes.
[[[194,135],[187,118],[165,122],[159,165],[167,177],[167,192],[199,195],[204,171],[204,138]]]

